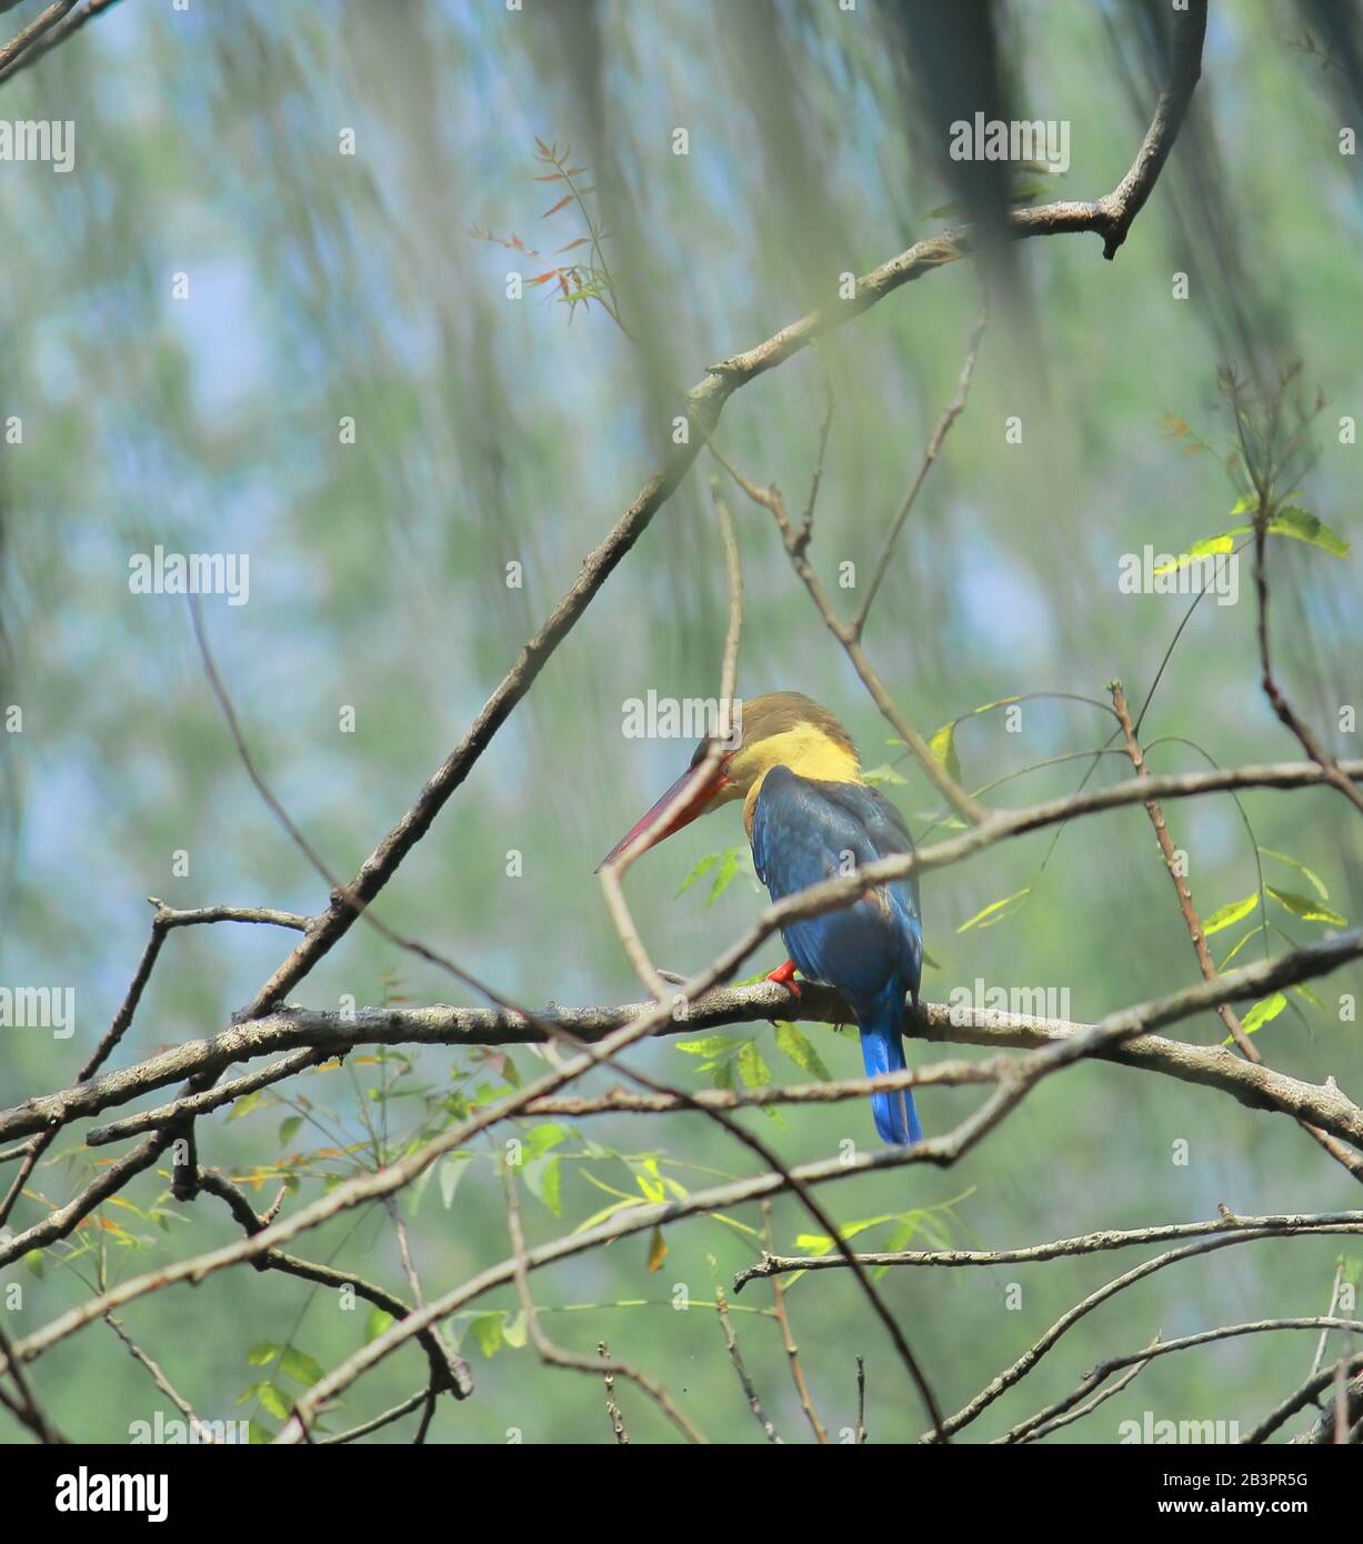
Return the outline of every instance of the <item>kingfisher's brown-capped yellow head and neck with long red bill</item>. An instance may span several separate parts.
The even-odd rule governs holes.
[[[801,692],[767,692],[749,698],[739,709],[733,723],[733,749],[722,747],[715,761],[709,755],[713,741],[702,740],[687,770],[611,848],[600,868],[625,851],[638,857],[699,815],[736,800],[742,800],[742,821],[752,831],[753,804],[763,778],[776,766],[829,783],[861,781],[857,747],[847,730],[826,707]],[[650,832],[648,828],[671,806],[671,818]]]

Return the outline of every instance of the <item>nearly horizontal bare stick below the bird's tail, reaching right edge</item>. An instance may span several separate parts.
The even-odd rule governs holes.
[[[1165,1244],[1175,1238],[1210,1238],[1218,1234],[1256,1231],[1273,1235],[1306,1234],[1338,1226],[1363,1229],[1363,1210],[1357,1212],[1286,1212],[1273,1217],[1236,1217],[1227,1207],[1209,1223],[1162,1223],[1156,1227],[1104,1229],[1077,1238],[1056,1238],[1022,1249],[903,1249],[892,1254],[861,1254],[868,1268],[891,1265],[960,1269],[965,1266],[1043,1265],[1071,1255],[1104,1254],[1108,1249],[1131,1249],[1139,1244]],[[773,1255],[764,1254],[758,1265],[747,1266],[733,1278],[735,1292],[749,1282],[792,1271],[826,1271],[843,1266],[841,1255]],[[1334,1305],[1331,1305],[1334,1308]]]

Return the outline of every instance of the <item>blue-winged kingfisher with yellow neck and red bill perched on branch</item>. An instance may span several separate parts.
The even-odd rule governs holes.
[[[718,761],[713,740],[696,746],[687,770],[611,848],[602,866],[625,849],[638,855],[738,800],[753,866],[772,900],[875,858],[914,851],[905,817],[866,781],[857,747],[827,709],[800,692],[769,692],[741,704],[733,730],[721,743]],[[671,820],[639,845],[673,801]],[[767,980],[798,996],[798,970],[807,980],[835,987],[857,1016],[866,1075],[903,1072],[905,999],[917,1007],[923,973],[917,875],[878,885],[840,911],[790,922],[781,937],[789,959]],[[871,1107],[883,1141],[922,1139],[908,1089],[874,1093]]]

